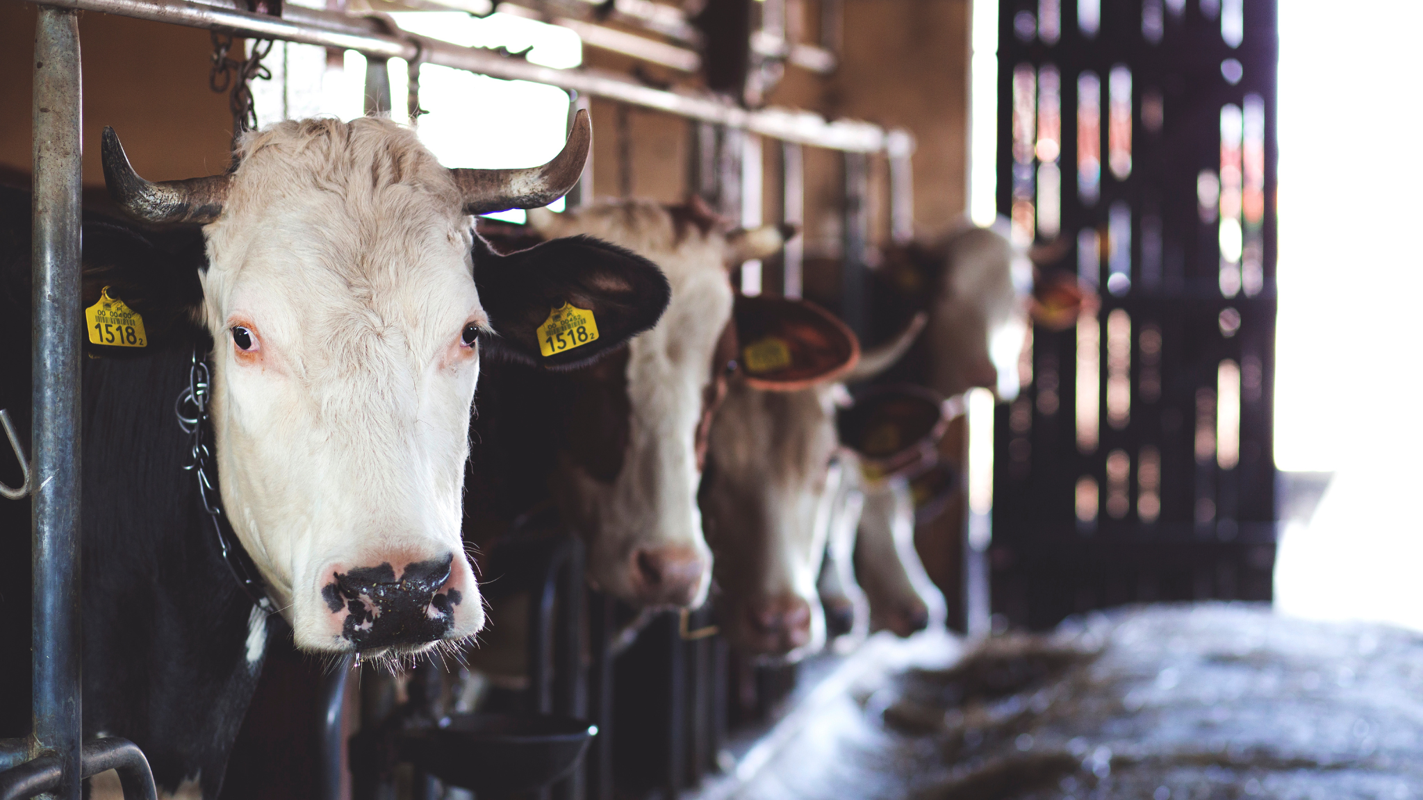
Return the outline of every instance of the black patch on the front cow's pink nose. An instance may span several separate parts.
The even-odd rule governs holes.
[[[390,562],[333,572],[322,588],[332,609],[347,612],[342,636],[357,651],[390,645],[420,645],[443,639],[454,628],[457,589],[438,592],[450,579],[454,554],[406,567],[400,579]]]

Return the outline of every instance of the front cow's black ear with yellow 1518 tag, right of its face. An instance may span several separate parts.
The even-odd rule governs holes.
[[[672,299],[650,260],[591,236],[508,255],[475,236],[474,283],[497,336],[488,352],[546,369],[588,364],[650,329]]]

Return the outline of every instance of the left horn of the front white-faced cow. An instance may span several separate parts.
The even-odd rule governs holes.
[[[196,222],[206,225],[222,215],[232,175],[188,178],[186,181],[145,181],[124,154],[114,128],[104,128],[104,184],[114,202],[137,219],[147,222]]]

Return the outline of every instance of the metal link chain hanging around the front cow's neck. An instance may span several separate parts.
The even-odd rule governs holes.
[[[228,515],[222,511],[222,493],[218,491],[218,464],[208,447],[208,441],[212,438],[212,420],[208,417],[208,403],[212,400],[211,374],[208,360],[199,359],[198,350],[194,349],[192,364],[188,367],[188,386],[178,393],[178,400],[174,403],[178,427],[188,434],[188,464],[184,465],[184,470],[198,478],[198,497],[202,498],[202,510],[212,521],[222,562],[228,565],[232,577],[252,598],[252,602],[263,612],[272,614],[276,606],[272,605],[272,598],[266,594],[262,574],[258,572],[258,565],[238,541],[231,522],[228,522]]]

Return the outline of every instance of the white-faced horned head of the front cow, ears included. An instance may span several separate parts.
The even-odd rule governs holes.
[[[127,211],[205,223],[195,296],[171,316],[211,336],[222,501],[300,648],[396,656],[474,635],[460,520],[481,350],[541,360],[536,329],[564,303],[602,337],[552,366],[656,322],[666,283],[645,259],[588,239],[499,256],[471,232],[468,214],[562,195],[589,141],[581,115],[542,168],[450,171],[386,120],[289,121],[248,134],[232,174],[152,184],[105,131]],[[144,312],[149,288],[102,280]]]

